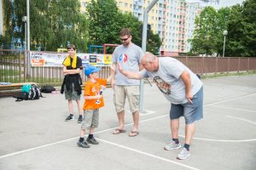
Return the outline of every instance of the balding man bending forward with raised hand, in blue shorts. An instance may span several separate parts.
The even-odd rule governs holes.
[[[119,72],[133,79],[152,77],[162,94],[171,102],[172,142],[166,144],[165,150],[181,148],[178,141],[178,127],[179,117],[184,116],[185,144],[177,159],[186,159],[190,156],[189,145],[195,133],[195,121],[203,117],[202,82],[186,65],[171,57],[158,58],[148,53],[143,56],[142,65],[145,70],[140,72],[125,71],[122,65],[118,65]]]

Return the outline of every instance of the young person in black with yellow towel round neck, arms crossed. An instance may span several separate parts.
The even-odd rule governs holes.
[[[80,104],[80,95],[82,94],[82,79],[80,77],[80,70],[83,69],[82,59],[76,55],[76,47],[73,44],[67,47],[67,52],[68,56],[62,63],[63,75],[65,77],[61,86],[61,94],[65,93],[65,98],[68,101],[69,116],[67,116],[65,121],[74,120],[73,100],[75,100],[79,109],[78,123],[80,123],[83,121],[83,110]]]

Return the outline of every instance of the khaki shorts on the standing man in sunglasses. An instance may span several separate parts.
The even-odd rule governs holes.
[[[118,86],[113,87],[113,104],[115,111],[119,113],[125,110],[125,98],[129,101],[130,111],[134,113],[138,111],[139,104],[139,86]]]

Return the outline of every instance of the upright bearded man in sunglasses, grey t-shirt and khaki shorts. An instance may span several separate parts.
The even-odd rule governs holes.
[[[122,45],[115,48],[112,55],[113,69],[115,72],[113,85],[113,103],[119,119],[119,127],[114,130],[113,134],[125,132],[125,98],[127,97],[130,104],[130,111],[133,116],[133,127],[129,136],[137,136],[139,122],[139,80],[129,79],[122,75],[116,68],[117,63],[122,65],[126,71],[139,71],[139,65],[143,58],[143,50],[131,42],[131,31],[123,28],[119,32]]]

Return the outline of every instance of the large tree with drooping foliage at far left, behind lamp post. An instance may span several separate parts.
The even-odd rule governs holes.
[[[89,24],[79,8],[79,0],[30,1],[30,48],[34,50],[41,47],[43,50],[55,51],[56,48],[73,43],[79,51],[85,51]],[[26,1],[14,1],[11,9],[13,10],[5,10],[5,23],[9,24],[9,20],[15,15],[15,25],[24,28],[22,16],[26,15]],[[7,36],[14,30],[14,20],[11,23]],[[14,36],[24,40],[24,30]]]

